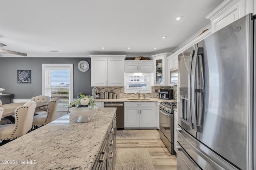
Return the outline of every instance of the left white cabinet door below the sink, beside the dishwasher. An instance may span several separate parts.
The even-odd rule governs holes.
[[[124,109],[124,128],[139,127],[139,110],[138,108]]]

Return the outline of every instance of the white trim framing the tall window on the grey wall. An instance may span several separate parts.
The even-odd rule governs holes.
[[[73,64],[42,64],[42,95],[45,95],[46,77],[45,69],[46,67],[70,67],[70,101],[72,102],[74,96],[74,83],[73,83]],[[67,111],[68,107],[58,107],[57,111]]]

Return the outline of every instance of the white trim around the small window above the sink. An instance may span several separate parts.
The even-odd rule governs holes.
[[[127,76],[128,75],[131,75],[131,74],[134,74],[134,73],[124,73],[124,93],[136,93],[138,92],[139,90],[128,90],[127,89]],[[143,90],[143,89],[140,89],[140,93],[152,93],[152,73],[140,73],[142,75],[148,75],[148,81],[149,81],[149,84],[148,84],[148,87],[149,89],[148,90]]]

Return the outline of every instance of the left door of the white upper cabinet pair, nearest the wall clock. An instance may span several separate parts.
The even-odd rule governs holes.
[[[107,86],[108,60],[91,59],[91,86]]]

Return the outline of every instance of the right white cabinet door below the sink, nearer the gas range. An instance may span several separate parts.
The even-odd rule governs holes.
[[[140,127],[154,127],[154,107],[140,107]]]

